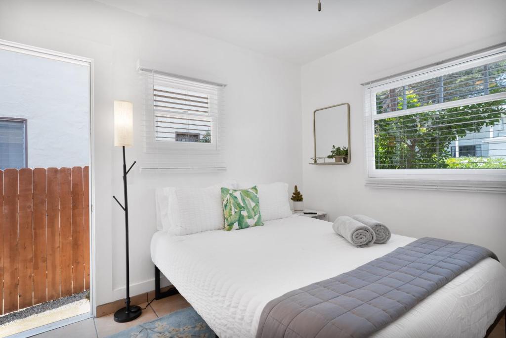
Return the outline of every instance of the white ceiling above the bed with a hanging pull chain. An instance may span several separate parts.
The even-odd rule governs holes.
[[[449,0],[97,0],[303,64]]]

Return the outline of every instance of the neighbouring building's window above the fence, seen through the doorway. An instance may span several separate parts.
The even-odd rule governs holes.
[[[26,168],[26,120],[0,118],[0,169]]]

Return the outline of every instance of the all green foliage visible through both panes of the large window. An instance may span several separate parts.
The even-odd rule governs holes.
[[[506,92],[505,72],[506,60],[501,60],[377,92],[376,114]],[[451,143],[495,125],[506,116],[505,108],[502,99],[375,121],[376,168],[453,168]]]

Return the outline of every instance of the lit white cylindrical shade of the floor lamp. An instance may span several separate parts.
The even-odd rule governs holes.
[[[114,101],[114,146],[134,144],[134,105],[129,101]]]

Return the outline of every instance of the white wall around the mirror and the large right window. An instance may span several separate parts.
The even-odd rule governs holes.
[[[506,195],[372,189],[366,177],[360,83],[458,56],[506,40],[506,2],[453,0],[302,67],[303,178],[308,207],[329,218],[364,213],[398,234],[484,245],[506,261]],[[351,104],[353,161],[310,166],[312,111]]]

